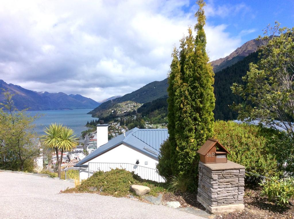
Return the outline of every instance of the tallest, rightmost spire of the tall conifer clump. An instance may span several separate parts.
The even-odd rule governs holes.
[[[195,39],[195,64],[196,64],[196,74],[194,74],[194,80],[198,92],[196,92],[196,118],[195,121],[199,121],[195,126],[196,140],[198,140],[198,146],[201,146],[208,137],[211,137],[213,132],[213,109],[215,107],[215,97],[213,94],[213,83],[214,83],[214,73],[212,66],[208,64],[209,58],[206,53],[206,35],[203,29],[205,25],[206,17],[204,15],[203,7],[206,5],[203,0],[198,2],[199,9],[195,14],[198,23],[195,25],[195,31],[197,31],[197,36]]]

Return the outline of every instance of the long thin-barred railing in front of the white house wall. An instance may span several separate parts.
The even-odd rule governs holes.
[[[125,169],[129,172],[138,174],[142,179],[148,179],[156,182],[165,182],[165,179],[160,176],[157,169],[138,166],[129,163],[88,163],[88,177],[92,176],[97,171],[110,171],[111,169]]]

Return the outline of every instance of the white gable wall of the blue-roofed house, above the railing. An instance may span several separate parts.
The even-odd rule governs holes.
[[[156,164],[158,160],[155,158],[149,157],[142,152],[139,152],[132,147],[127,145],[121,144],[113,149],[105,152],[104,154],[95,157],[89,162],[93,163],[130,163],[136,164],[136,161],[139,160],[138,166],[148,167],[152,169],[156,169]],[[88,164],[86,162],[84,164]],[[145,164],[147,162],[148,164]],[[93,171],[93,170],[92,170]],[[90,169],[91,172],[91,169]],[[91,175],[91,173],[90,173]],[[140,175],[140,174],[138,174]],[[87,179],[88,178],[88,168],[81,168],[80,170],[80,179]]]

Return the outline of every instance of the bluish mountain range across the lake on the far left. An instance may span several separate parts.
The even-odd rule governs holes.
[[[80,94],[36,92],[24,89],[19,85],[7,84],[3,80],[0,80],[0,89],[5,89],[14,95],[12,100],[19,110],[25,108],[29,110],[93,109],[100,105],[91,98]],[[0,101],[4,100],[4,95],[0,94]]]

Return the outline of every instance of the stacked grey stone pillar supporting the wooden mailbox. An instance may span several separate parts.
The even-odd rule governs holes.
[[[206,208],[243,204],[245,169],[212,170],[199,162],[198,194]]]

